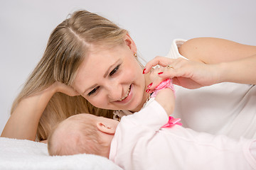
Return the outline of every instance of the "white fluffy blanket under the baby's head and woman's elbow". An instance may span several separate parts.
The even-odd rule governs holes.
[[[0,137],[0,169],[117,169],[105,157],[92,154],[50,157],[47,145]]]

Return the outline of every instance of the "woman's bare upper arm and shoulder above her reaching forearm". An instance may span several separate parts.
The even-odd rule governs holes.
[[[217,64],[256,55],[256,46],[220,38],[193,38],[178,47],[178,52],[188,60]]]

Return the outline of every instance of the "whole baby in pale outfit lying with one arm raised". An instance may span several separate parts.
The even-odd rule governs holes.
[[[123,169],[256,169],[255,142],[183,128],[174,111],[171,80],[141,111],[120,122],[82,113],[60,123],[48,139],[50,155],[97,154]]]

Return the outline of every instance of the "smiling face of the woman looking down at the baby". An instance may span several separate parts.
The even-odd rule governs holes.
[[[149,94],[146,75],[134,57],[137,51],[127,35],[124,45],[91,47],[78,69],[73,87],[93,106],[139,111]]]

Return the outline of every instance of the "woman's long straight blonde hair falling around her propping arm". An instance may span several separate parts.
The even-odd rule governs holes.
[[[15,99],[11,113],[18,103],[36,92],[43,91],[55,81],[73,84],[90,45],[119,45],[124,43],[127,30],[89,11],[75,11],[51,33],[46,50]],[[112,111],[95,108],[82,96],[70,97],[56,93],[39,120],[37,140],[46,140],[51,128],[60,120],[77,113],[93,113],[112,118]]]

